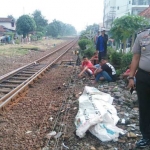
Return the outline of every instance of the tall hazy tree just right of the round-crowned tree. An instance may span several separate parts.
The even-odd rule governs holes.
[[[32,15],[37,26],[36,30],[44,34],[46,31],[46,26],[48,25],[48,20],[45,19],[40,10],[35,10]]]

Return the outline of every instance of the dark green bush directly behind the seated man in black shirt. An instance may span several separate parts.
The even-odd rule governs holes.
[[[120,52],[112,52],[110,56],[110,61],[113,65],[120,66],[121,65],[122,54]]]

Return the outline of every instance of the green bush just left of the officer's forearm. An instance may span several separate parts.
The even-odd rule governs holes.
[[[127,67],[131,64],[133,54],[128,52],[124,54],[121,58],[121,67]]]

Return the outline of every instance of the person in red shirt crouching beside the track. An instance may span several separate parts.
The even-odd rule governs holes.
[[[89,76],[92,76],[95,71],[95,67],[93,66],[91,61],[88,60],[88,58],[85,56],[83,56],[83,61],[82,61],[82,65],[80,66],[80,68],[81,68],[81,72],[78,75],[79,77],[81,77],[83,73],[86,73]]]

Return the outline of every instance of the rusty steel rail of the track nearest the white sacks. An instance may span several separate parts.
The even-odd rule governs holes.
[[[0,104],[0,110],[3,110],[4,107],[6,105],[8,105],[8,103],[12,100],[14,100],[18,94],[22,93],[29,84],[33,83],[34,80],[36,80],[37,78],[39,78],[46,70],[48,70],[56,61],[58,61],[58,59],[60,59],[68,50],[70,50],[76,43],[77,40],[75,40],[75,42],[71,41],[70,43],[73,43],[69,48],[67,48],[67,50],[65,52],[63,52],[59,57],[57,57],[55,60],[53,60],[50,64],[46,65],[45,67],[43,67],[42,69],[40,69],[38,72],[36,72],[35,74],[33,74],[30,78],[28,78],[26,81],[24,81],[21,85],[19,85],[16,89],[12,90],[8,95],[5,95],[4,97],[2,97],[2,99],[0,99],[0,101],[2,102]],[[46,55],[46,57],[48,57]],[[43,59],[43,58],[42,58]]]

